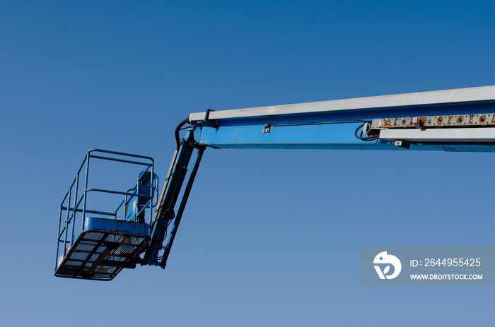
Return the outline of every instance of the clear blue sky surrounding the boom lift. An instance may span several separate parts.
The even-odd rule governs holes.
[[[493,326],[359,246],[494,245],[486,153],[207,150],[165,270],[55,278],[91,148],[163,178],[190,112],[495,85],[494,1],[0,1],[3,326]]]

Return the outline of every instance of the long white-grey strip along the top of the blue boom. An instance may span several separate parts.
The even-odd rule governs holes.
[[[457,88],[376,97],[356,97],[353,99],[306,102],[294,105],[275,105],[245,109],[221,110],[209,112],[210,120],[238,119],[276,116],[284,114],[310,114],[345,110],[366,110],[379,108],[419,107],[422,105],[449,105],[455,103],[483,102],[495,100],[495,85],[479,88]],[[189,120],[204,121],[206,112],[190,114]]]

